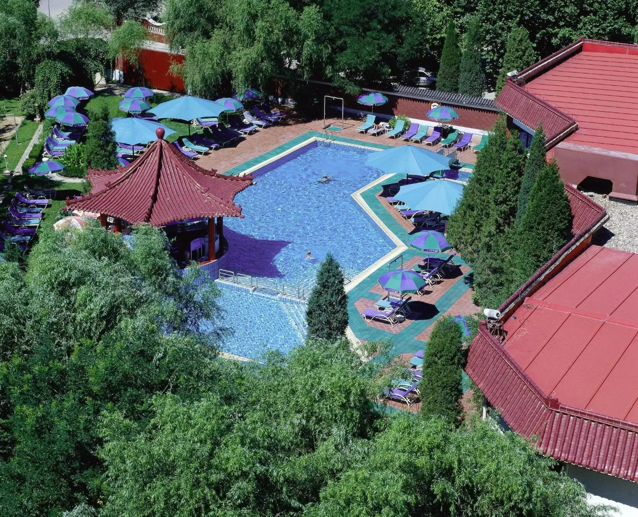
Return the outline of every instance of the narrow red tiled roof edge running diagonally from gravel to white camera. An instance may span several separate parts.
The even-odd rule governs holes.
[[[570,198],[570,208],[572,209],[572,219],[576,221],[577,217],[582,214],[574,213],[574,205],[575,201],[579,201],[592,211],[596,212],[598,215],[591,214],[590,221],[581,229],[581,231],[572,231],[574,237],[572,237],[567,244],[565,244],[556,254],[547,261],[536,273],[534,273],[527,282],[525,282],[520,288],[516,289],[512,295],[505,300],[505,302],[501,303],[498,310],[500,310],[502,319],[505,319],[510,312],[513,312],[516,309],[518,303],[521,302],[524,296],[529,296],[531,293],[534,293],[540,285],[538,283],[542,280],[547,274],[551,273],[556,266],[557,263],[560,263],[563,258],[565,258],[572,249],[574,249],[579,242],[582,242],[584,238],[588,237],[593,231],[598,228],[598,226],[602,226],[604,222],[607,220],[607,212],[605,208],[601,207],[595,201],[591,200],[588,196],[582,194],[575,189],[571,185],[565,185],[565,191],[567,192],[568,198]],[[574,223],[572,222],[572,228]]]

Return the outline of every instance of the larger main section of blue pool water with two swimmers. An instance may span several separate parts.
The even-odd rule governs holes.
[[[224,220],[228,268],[296,284],[315,277],[328,251],[348,277],[390,252],[392,242],[350,195],[380,175],[366,167],[368,155],[346,145],[308,146],[258,170],[257,184],[235,197],[246,217]],[[324,175],[330,180],[318,182]],[[305,259],[308,250],[315,260]]]

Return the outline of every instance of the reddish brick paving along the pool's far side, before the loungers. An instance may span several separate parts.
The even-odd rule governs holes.
[[[216,169],[219,172],[225,172],[246,161],[269,152],[275,147],[278,147],[278,145],[286,143],[289,140],[306,133],[306,131],[318,131],[323,133],[323,119],[306,119],[297,115],[297,113],[293,110],[286,110],[286,108],[283,108],[282,111],[288,113],[288,117],[279,122],[279,124],[274,124],[274,126],[260,129],[253,135],[248,135],[246,138],[242,138],[241,142],[236,145],[212,151],[209,154],[198,158],[197,164],[209,170]],[[336,122],[337,120],[326,120],[326,124],[330,121]],[[341,122],[341,119],[338,121]],[[360,140],[363,143],[374,143],[376,145],[405,145],[407,143],[401,140],[401,138],[395,139],[388,138],[385,135],[371,136],[357,133],[356,127],[360,124],[360,120],[346,119],[346,129],[336,131],[334,133],[331,132],[330,134],[342,138]],[[440,145],[435,145],[434,147],[426,146],[424,144],[413,145],[422,145],[422,147],[433,151],[441,149]],[[463,163],[473,164],[476,162],[476,155],[470,150],[459,152],[458,157]]]

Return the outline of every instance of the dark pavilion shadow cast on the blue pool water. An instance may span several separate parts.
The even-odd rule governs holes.
[[[226,265],[235,273],[283,278],[283,274],[274,265],[274,258],[291,241],[258,239],[229,228],[224,228],[224,237],[228,241]]]

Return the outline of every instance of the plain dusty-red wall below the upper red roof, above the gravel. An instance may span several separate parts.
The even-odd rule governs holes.
[[[611,180],[612,198],[638,201],[638,155],[561,142],[553,148],[565,182],[574,186],[591,176]]]

